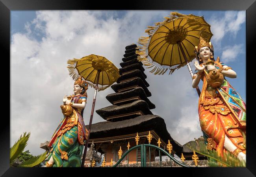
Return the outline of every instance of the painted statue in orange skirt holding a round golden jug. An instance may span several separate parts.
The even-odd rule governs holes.
[[[246,104],[225,77],[236,78],[236,72],[213,58],[211,42],[199,39],[195,47],[198,61],[192,87],[203,81],[198,101],[198,113],[207,148],[215,149],[219,156],[230,151],[246,162]]]

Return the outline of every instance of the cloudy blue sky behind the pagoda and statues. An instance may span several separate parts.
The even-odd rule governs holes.
[[[147,26],[164,20],[171,11],[11,11],[11,145],[22,132],[31,131],[27,149],[40,154],[41,142],[50,140],[61,119],[63,95],[72,94],[68,59],[96,54],[121,68],[125,46],[136,43]],[[215,59],[220,57],[237,73],[227,78],[245,100],[245,11],[178,11],[204,16],[211,25]],[[195,69],[193,62],[190,63]],[[145,70],[153,114],[165,119],[167,130],[180,144],[202,133],[198,120],[198,96],[187,68],[172,75],[155,76]],[[19,89],[17,89],[19,88]],[[202,88],[202,83],[199,84]],[[89,117],[93,89],[88,89],[84,115]],[[97,94],[95,110],[111,105],[108,88]],[[87,115],[88,114],[88,115]],[[88,123],[87,123],[87,122]],[[104,121],[95,112],[93,123]],[[85,119],[85,124],[89,124]],[[22,126],[20,126],[22,125]]]

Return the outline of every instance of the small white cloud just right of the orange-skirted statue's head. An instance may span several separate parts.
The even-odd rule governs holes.
[[[237,55],[244,53],[243,44],[235,44],[234,46],[226,46],[223,48],[221,60],[223,63],[235,61]]]

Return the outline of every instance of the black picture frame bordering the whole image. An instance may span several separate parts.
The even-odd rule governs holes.
[[[256,155],[255,155],[255,131],[252,115],[252,98],[250,92],[253,94],[253,87],[250,84],[253,80],[250,79],[250,72],[253,70],[255,63],[254,54],[254,40],[256,39],[256,2],[254,0],[127,0],[124,2],[111,1],[85,1],[85,0],[0,0],[0,40],[1,40],[1,54],[2,66],[7,68],[8,58],[10,58],[10,11],[12,10],[87,10],[87,9],[126,9],[126,10],[246,10],[246,91],[247,92],[247,167],[246,168],[129,168],[129,175],[137,175],[137,170],[145,172],[161,172],[160,175],[176,175],[184,176],[254,176],[256,175]],[[10,66],[11,70],[11,66]],[[8,73],[8,72],[6,72]],[[11,73],[11,72],[9,72]],[[6,74],[5,74],[6,75]],[[254,74],[255,76],[255,74]],[[2,81],[2,85],[10,83],[11,76],[6,76],[6,81]],[[242,83],[243,84],[243,83]],[[11,85],[10,85],[11,88]],[[9,92],[11,94],[11,90]],[[10,95],[2,92],[3,95]],[[7,98],[6,98],[7,99]],[[2,101],[5,104],[7,101]],[[249,108],[248,108],[249,106]],[[11,109],[10,109],[11,118]],[[4,119],[4,117],[2,117]],[[99,173],[109,173],[111,175],[124,175],[123,170],[127,168],[10,168],[9,167],[9,149],[10,149],[10,123],[2,123],[1,126],[1,150],[0,150],[0,175],[2,176],[53,176],[54,172],[65,175],[78,175],[75,173],[82,173],[83,175],[99,175]],[[108,171],[109,170],[109,171]],[[119,171],[122,170],[122,171]],[[161,171],[160,171],[161,170]],[[165,170],[163,173],[162,170]],[[90,173],[88,173],[90,171]],[[75,173],[74,173],[75,172]],[[56,175],[58,175],[56,174]]]

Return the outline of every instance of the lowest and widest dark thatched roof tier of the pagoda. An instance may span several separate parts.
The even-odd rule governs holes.
[[[87,129],[89,125],[85,125]],[[123,120],[118,122],[98,122],[96,124],[92,124],[90,139],[96,138],[107,138],[111,136],[121,136],[133,134],[136,132],[150,131],[154,130],[160,138],[168,143],[170,140],[173,145],[173,150],[176,153],[180,153],[183,147],[173,140],[171,135],[168,133],[166,129],[166,124],[163,118],[157,115],[143,115],[138,116],[131,120]]]

